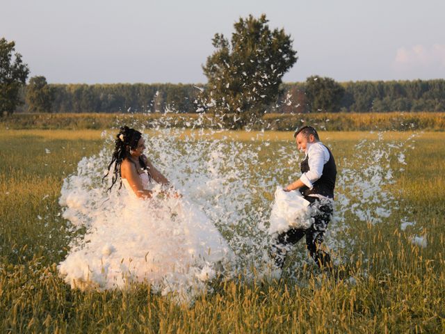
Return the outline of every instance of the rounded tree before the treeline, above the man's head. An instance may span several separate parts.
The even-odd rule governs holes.
[[[334,79],[312,76],[306,79],[306,97],[309,112],[335,113],[340,110],[345,89]]]

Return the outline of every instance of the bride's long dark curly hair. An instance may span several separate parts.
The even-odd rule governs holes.
[[[122,161],[131,156],[130,150],[136,150],[136,148],[138,148],[138,142],[140,137],[142,137],[142,134],[138,132],[138,130],[130,129],[127,126],[120,128],[120,132],[116,135],[113,156],[111,157],[110,164],[108,164],[108,172],[104,177],[102,177],[102,182],[104,182],[104,179],[110,173],[111,166],[113,166],[114,164],[113,179],[110,188],[108,188],[108,191],[111,191],[111,188],[113,188],[114,184],[116,183],[116,181],[118,181],[118,178],[121,176],[120,165],[122,164]],[[129,159],[129,161],[135,164],[134,161],[132,161],[131,159]],[[149,175],[149,172],[147,170],[147,165],[145,164],[145,161],[144,159],[142,159],[142,157],[139,157],[139,164],[140,166],[142,166],[143,170],[145,170]],[[120,185],[119,185],[119,189],[121,188],[122,188],[122,179],[120,180]]]

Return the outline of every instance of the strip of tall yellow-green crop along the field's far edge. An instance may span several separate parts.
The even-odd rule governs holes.
[[[109,129],[126,120],[137,120],[148,128],[163,122],[179,128],[218,128],[221,122],[207,114],[198,125],[199,117],[197,113],[17,113],[0,118],[0,129]],[[232,119],[225,117],[227,127]],[[444,131],[445,113],[268,113],[252,129],[290,131],[308,123],[327,131]]]

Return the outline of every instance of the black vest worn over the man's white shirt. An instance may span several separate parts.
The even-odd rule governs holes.
[[[323,144],[322,144],[323,145]],[[324,145],[323,145],[324,146]],[[326,146],[325,146],[326,148]],[[337,166],[335,166],[334,156],[329,148],[329,160],[323,166],[323,175],[312,184],[313,188],[309,189],[307,186],[302,186],[300,192],[302,196],[308,196],[310,194],[317,193],[328,198],[334,198],[335,177],[337,177]],[[309,171],[309,154],[306,159],[301,162],[301,173]]]

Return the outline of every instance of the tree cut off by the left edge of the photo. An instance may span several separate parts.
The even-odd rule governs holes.
[[[15,42],[0,40],[0,116],[11,114],[15,107],[22,103],[19,89],[26,83],[29,74],[28,65],[22,62],[21,54],[14,54]]]

